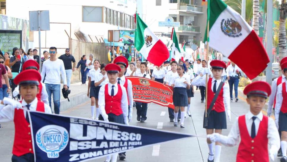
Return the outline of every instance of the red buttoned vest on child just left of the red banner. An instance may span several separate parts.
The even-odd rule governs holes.
[[[106,113],[113,113],[119,116],[123,113],[121,103],[122,103],[122,88],[118,84],[118,93],[115,96],[110,96],[108,93],[108,84],[105,85],[105,110]]]

